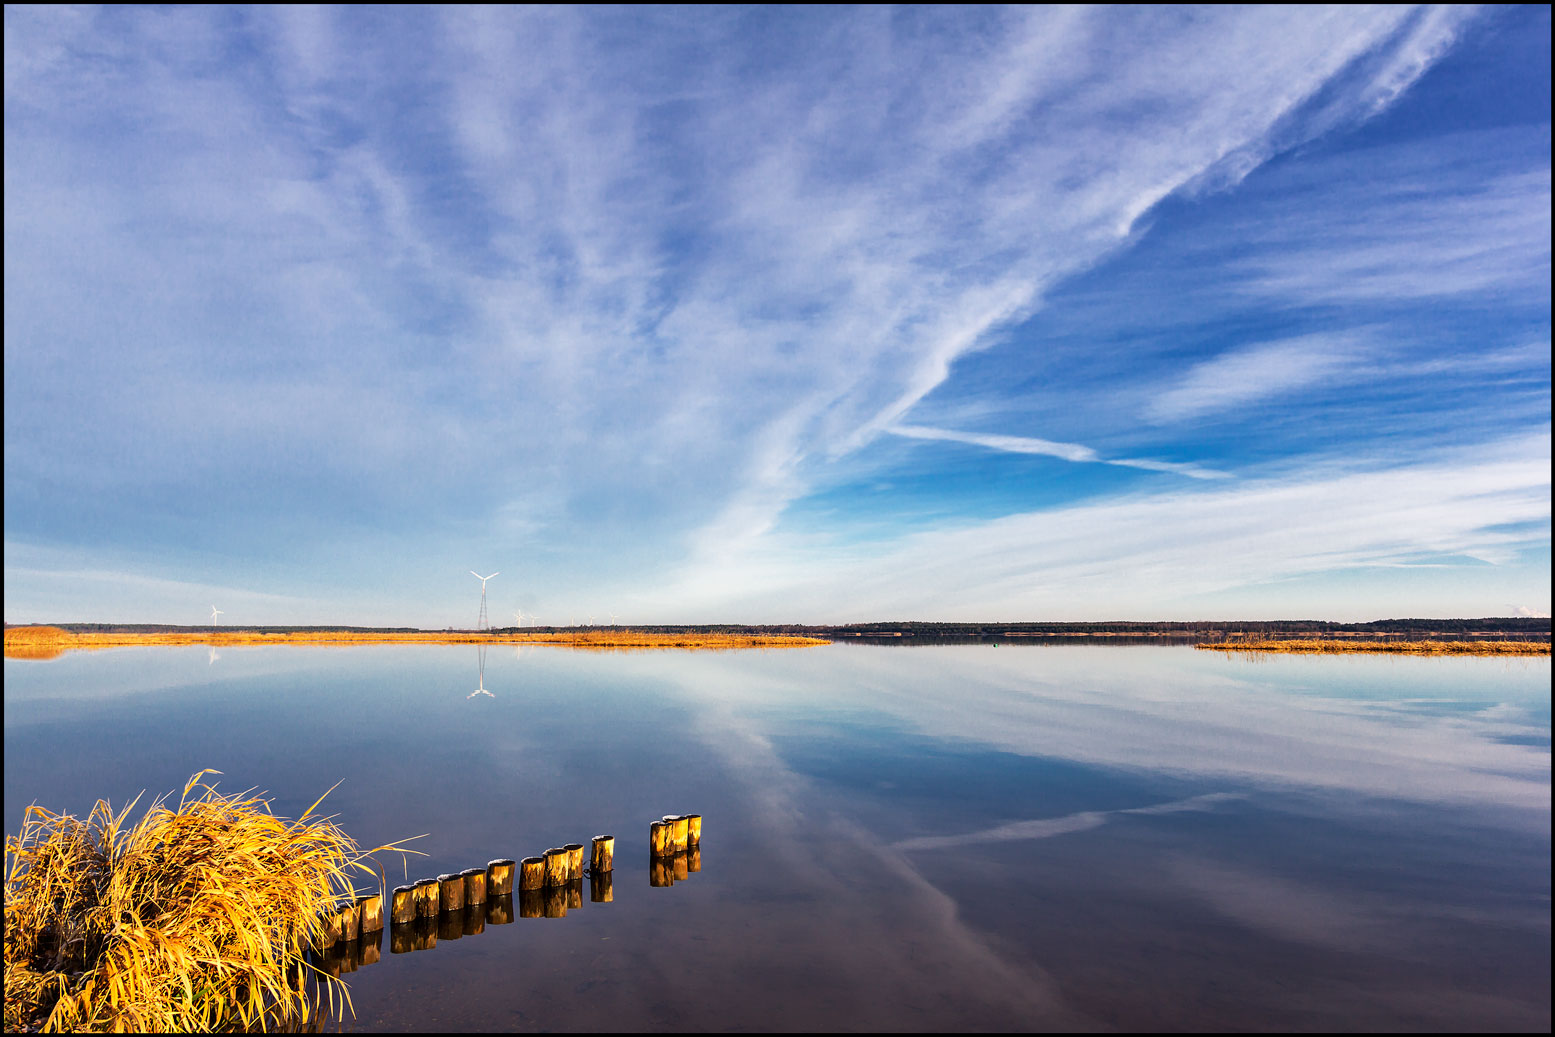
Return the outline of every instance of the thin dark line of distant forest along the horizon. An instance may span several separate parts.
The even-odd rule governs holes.
[[[6,623],[14,627],[16,623]],[[54,623],[61,630],[75,633],[180,633],[180,631],[257,631],[257,633],[311,633],[327,630],[345,630],[356,633],[418,633],[415,627],[179,627],[173,623]],[[1438,634],[1438,636],[1515,636],[1515,637],[1549,637],[1550,620],[1532,617],[1483,617],[1483,619],[1378,619],[1367,623],[1331,623],[1317,619],[1280,619],[1280,620],[1191,620],[1191,622],[1098,622],[1098,623],[935,623],[935,622],[877,622],[877,623],[841,623],[841,625],[809,625],[809,623],[622,623],[592,627],[501,627],[493,628],[494,634],[518,633],[550,633],[574,630],[634,630],[661,634],[796,634],[805,637],[830,639],[875,639],[875,637],[907,637],[914,641],[959,641],[986,637],[1020,637],[1020,636],[1104,636],[1104,637],[1194,637],[1199,641],[1218,641],[1222,637],[1242,636],[1312,636],[1312,634]]]

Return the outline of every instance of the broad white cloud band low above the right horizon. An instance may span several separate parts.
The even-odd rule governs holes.
[[[947,619],[1095,619],[1124,611],[1180,619],[1233,589],[1406,564],[1420,555],[1510,564],[1521,549],[1546,543],[1549,459],[1549,432],[1541,431],[1412,465],[1325,462],[1227,488],[969,521],[880,547],[790,538],[692,569],[675,597],[706,616],[784,600],[796,614],[857,620],[877,619],[879,602],[891,602],[897,616]],[[1519,530],[1519,522],[1529,525]],[[1527,583],[1529,572],[1518,580]],[[1413,600],[1426,614],[1469,608],[1462,588],[1446,592],[1457,603]],[[1294,600],[1277,594],[1263,608],[1288,614]],[[1479,614],[1493,614],[1496,603]],[[1330,608],[1331,619],[1376,619],[1376,605],[1353,616]]]

